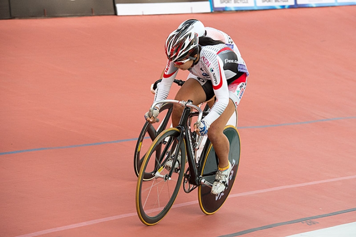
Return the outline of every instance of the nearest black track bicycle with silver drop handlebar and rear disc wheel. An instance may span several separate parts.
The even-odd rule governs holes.
[[[201,136],[198,136],[191,126],[195,120],[200,121],[208,112],[203,112],[193,105],[192,101],[177,100],[156,102],[151,111],[159,103],[179,104],[184,110],[179,125],[159,132],[140,164],[136,187],[139,219],[146,225],[157,224],[171,209],[182,183],[186,193],[198,188],[198,201],[203,213],[216,213],[230,193],[237,175],[240,139],[236,127],[229,125],[224,129],[224,134],[230,142],[229,161],[233,166],[228,187],[222,193],[212,195],[210,192],[218,170],[218,157],[209,139],[206,140],[201,155],[196,155]],[[192,108],[197,111],[192,111]],[[179,162],[178,156],[183,162]],[[184,157],[188,164],[186,170]],[[167,169],[166,163],[169,159],[173,159],[171,167],[178,168]]]

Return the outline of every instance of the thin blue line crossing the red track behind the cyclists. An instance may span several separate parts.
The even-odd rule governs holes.
[[[282,127],[282,126],[292,126],[292,125],[301,125],[301,124],[311,124],[311,123],[334,121],[334,120],[346,120],[346,119],[356,119],[356,116],[330,118],[330,119],[319,119],[319,120],[297,122],[297,123],[287,123],[287,124],[273,124],[273,125],[262,125],[262,126],[237,127],[237,129],[263,129],[263,128],[271,128],[271,127]],[[31,151],[45,151],[45,150],[57,150],[57,149],[77,148],[77,147],[90,147],[90,146],[98,146],[98,145],[111,144],[111,143],[137,141],[137,139],[138,138],[131,138],[131,139],[109,141],[109,142],[97,142],[97,143],[72,145],[72,146],[64,146],[64,147],[46,147],[46,148],[35,148],[35,149],[27,149],[27,150],[19,150],[19,151],[7,151],[7,152],[0,152],[0,155],[31,152]]]

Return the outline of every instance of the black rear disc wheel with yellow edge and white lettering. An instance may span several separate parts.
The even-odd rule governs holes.
[[[228,197],[237,175],[238,164],[240,161],[240,137],[236,127],[229,125],[224,129],[224,134],[229,139],[230,151],[229,151],[229,161],[233,168],[229,177],[228,188],[218,194],[210,194],[211,188],[206,185],[200,185],[198,187],[198,201],[200,209],[206,215],[212,215],[216,213],[220,207],[224,204],[226,198]],[[215,179],[215,173],[218,171],[218,157],[214,151],[214,147],[211,142],[206,143],[208,148],[206,149],[206,155],[201,169],[201,176],[208,181],[213,183]]]

